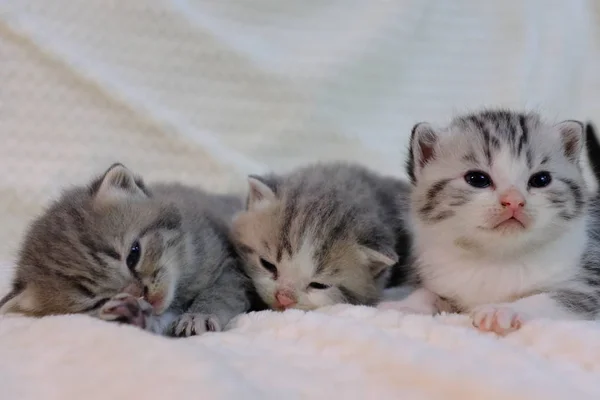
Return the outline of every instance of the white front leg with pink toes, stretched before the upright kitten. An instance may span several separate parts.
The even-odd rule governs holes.
[[[533,318],[584,319],[574,311],[573,302],[586,296],[575,292],[539,293],[512,303],[485,304],[471,312],[473,326],[483,332],[506,335]]]

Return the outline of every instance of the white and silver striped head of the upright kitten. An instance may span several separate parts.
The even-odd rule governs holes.
[[[510,251],[552,240],[584,213],[578,122],[484,112],[413,132],[413,216],[431,240]]]

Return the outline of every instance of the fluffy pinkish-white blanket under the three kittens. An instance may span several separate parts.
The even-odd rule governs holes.
[[[600,324],[505,338],[467,317],[336,306],[169,339],[85,316],[0,318],[0,399],[600,399]]]

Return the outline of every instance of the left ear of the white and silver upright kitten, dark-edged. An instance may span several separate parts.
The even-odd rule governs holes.
[[[427,122],[416,124],[410,136],[410,153],[406,163],[406,172],[411,183],[415,184],[425,165],[435,157],[435,145],[438,135]]]

